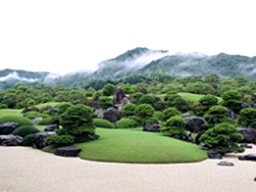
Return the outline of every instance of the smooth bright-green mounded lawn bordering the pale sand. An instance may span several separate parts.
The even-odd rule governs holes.
[[[207,159],[207,153],[195,144],[185,143],[159,133],[140,130],[97,128],[100,138],[90,143],[77,143],[84,160],[127,163],[184,163]]]

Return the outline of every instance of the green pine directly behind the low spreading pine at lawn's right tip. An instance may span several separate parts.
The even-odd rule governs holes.
[[[229,110],[223,106],[212,106],[204,115],[204,119],[208,123],[207,127],[213,127],[223,122],[230,122],[231,119],[228,117],[228,112]]]

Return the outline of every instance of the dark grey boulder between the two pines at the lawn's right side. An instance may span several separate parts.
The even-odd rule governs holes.
[[[191,132],[201,132],[204,128],[201,126],[203,124],[207,124],[207,121],[201,117],[185,117],[184,120],[186,121],[186,128]]]

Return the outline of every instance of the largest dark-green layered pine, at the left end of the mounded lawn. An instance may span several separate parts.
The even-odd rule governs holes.
[[[67,108],[67,111],[61,114],[62,129],[67,135],[75,137],[75,142],[95,140],[98,136],[92,124],[93,116],[93,109],[83,104]]]

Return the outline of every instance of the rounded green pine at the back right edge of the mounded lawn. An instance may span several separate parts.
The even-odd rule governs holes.
[[[174,136],[175,134],[180,136],[187,136],[185,130],[186,121],[180,116],[175,115],[170,119],[164,121],[161,125],[160,132],[165,136]]]

